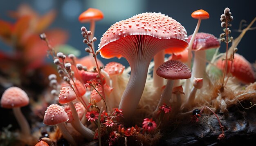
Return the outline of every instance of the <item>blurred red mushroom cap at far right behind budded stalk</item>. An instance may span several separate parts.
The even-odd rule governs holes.
[[[216,65],[218,68],[224,69],[225,61],[222,61],[222,59],[220,58],[217,61]],[[230,70],[230,66],[231,61],[228,62],[227,71]],[[235,54],[235,58],[233,60],[231,73],[234,77],[246,84],[255,82],[255,73],[252,69],[251,64],[242,55],[239,55],[237,53]]]

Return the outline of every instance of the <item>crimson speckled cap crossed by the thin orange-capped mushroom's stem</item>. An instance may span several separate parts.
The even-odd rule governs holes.
[[[189,35],[190,42],[192,35]],[[193,42],[192,50],[201,51],[220,47],[220,41],[214,35],[209,33],[197,33]]]

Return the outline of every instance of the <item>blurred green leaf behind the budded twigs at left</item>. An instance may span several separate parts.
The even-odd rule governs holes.
[[[74,54],[76,57],[81,55],[81,51],[70,45],[58,45],[55,47],[57,52],[62,52],[65,55]]]

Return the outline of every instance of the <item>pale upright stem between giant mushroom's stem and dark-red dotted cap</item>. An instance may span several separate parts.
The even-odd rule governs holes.
[[[153,85],[156,88],[161,88],[164,85],[164,78],[159,77],[156,73],[157,67],[164,63],[164,50],[159,51],[154,56],[154,69],[153,69]]]

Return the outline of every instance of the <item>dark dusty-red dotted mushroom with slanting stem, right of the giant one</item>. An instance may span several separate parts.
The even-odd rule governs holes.
[[[162,93],[162,96],[159,100],[157,109],[159,106],[162,106],[164,103],[168,104],[169,100],[172,97],[173,82],[174,80],[188,79],[191,77],[191,71],[180,61],[177,60],[168,60],[164,62],[161,66],[157,68],[157,75],[167,79],[166,87]],[[156,109],[156,111],[157,111]]]

